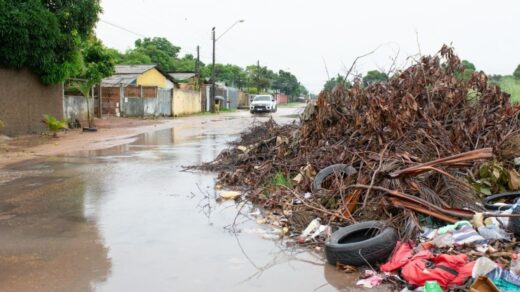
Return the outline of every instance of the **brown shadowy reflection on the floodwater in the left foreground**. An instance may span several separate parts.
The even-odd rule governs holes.
[[[0,291],[89,291],[110,274],[108,249],[85,216],[85,180],[62,166],[28,167],[0,184]]]

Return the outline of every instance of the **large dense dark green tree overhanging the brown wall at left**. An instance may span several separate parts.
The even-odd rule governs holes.
[[[27,67],[46,84],[76,75],[100,11],[99,0],[0,0],[0,66]]]

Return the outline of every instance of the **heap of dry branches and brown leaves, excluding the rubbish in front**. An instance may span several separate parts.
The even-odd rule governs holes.
[[[423,215],[468,218],[481,205],[465,177],[485,159],[518,154],[511,141],[520,141],[520,122],[508,94],[483,72],[464,80],[463,71],[444,46],[388,82],[322,92],[299,124],[253,126],[202,168],[245,187],[248,199],[283,210],[296,228],[315,216],[331,224],[388,219],[411,236]],[[315,171],[337,163],[357,174],[312,192]],[[283,186],[273,183],[280,175]]]

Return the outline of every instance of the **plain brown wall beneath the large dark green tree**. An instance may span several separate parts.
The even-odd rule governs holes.
[[[63,118],[63,85],[43,85],[29,70],[0,69],[0,120],[9,136],[39,133],[43,114]]]

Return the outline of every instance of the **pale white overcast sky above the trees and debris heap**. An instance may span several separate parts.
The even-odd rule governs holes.
[[[211,62],[211,28],[217,62],[289,70],[318,93],[329,75],[344,73],[356,56],[383,45],[358,62],[361,73],[388,68],[399,51],[400,66],[418,52],[435,53],[452,43],[463,59],[493,74],[511,74],[520,64],[520,1],[481,0],[102,0],[97,35],[112,48],[133,47],[138,35],[166,37],[182,54]],[[116,24],[128,31],[111,26]],[[416,34],[417,32],[417,34]]]

